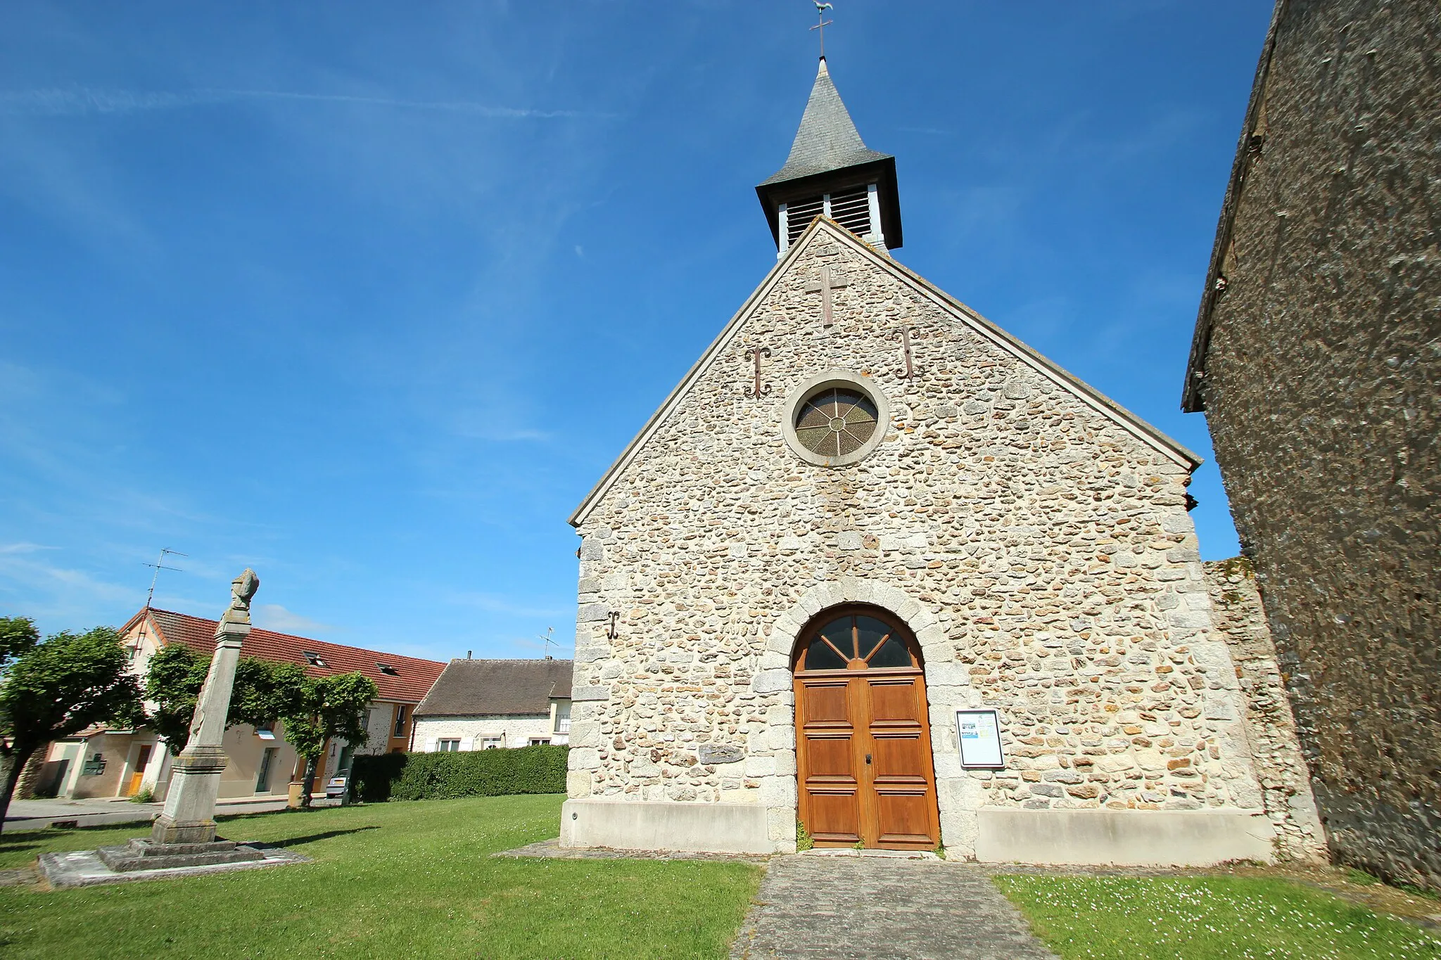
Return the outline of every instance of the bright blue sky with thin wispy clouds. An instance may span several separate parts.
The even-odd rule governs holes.
[[[834,0],[921,275],[1179,396],[1270,4]],[[0,6],[0,613],[421,656],[569,639],[565,520],[772,266],[814,7]],[[1192,514],[1235,553],[1213,463]],[[566,648],[562,648],[565,652]]]

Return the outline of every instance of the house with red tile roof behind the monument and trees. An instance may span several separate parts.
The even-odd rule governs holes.
[[[130,649],[131,671],[144,676],[150,658],[171,643],[182,643],[202,656],[215,652],[216,620],[146,607],[133,616],[121,636]],[[370,738],[352,747],[342,740],[326,744],[316,789],[350,767],[357,753],[403,753],[411,748],[415,707],[425,699],[445,664],[415,656],[329,643],[307,636],[252,629],[241,656],[295,664],[308,676],[331,676],[359,671],[375,681],[379,694],[366,711]],[[183,746],[183,744],[182,744]],[[256,730],[249,725],[225,731],[231,763],[220,777],[220,797],[284,797],[290,784],[304,774],[294,747],[285,743],[282,727]],[[170,782],[170,751],[150,730],[86,730],[50,746],[48,774],[65,797],[134,796],[150,790],[163,797]]]

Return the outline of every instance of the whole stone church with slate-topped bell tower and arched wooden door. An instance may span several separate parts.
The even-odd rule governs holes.
[[[1314,851],[1304,773],[1267,783],[1300,767],[1270,638],[1238,671],[1218,626],[1196,455],[892,258],[895,158],[824,59],[757,191],[775,268],[571,518],[562,843]]]

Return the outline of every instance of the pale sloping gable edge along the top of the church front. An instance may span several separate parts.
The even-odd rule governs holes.
[[[971,309],[961,301],[955,299],[941,288],[935,286],[921,275],[915,273],[914,271],[905,266],[901,266],[889,256],[878,253],[869,243],[857,237],[846,227],[840,226],[834,220],[827,220],[826,217],[816,217],[816,220],[806,229],[806,232],[800,237],[797,237],[795,243],[790,246],[790,249],[785,252],[785,256],[782,256],[775,263],[775,266],[771,268],[771,272],[767,273],[765,279],[761,281],[761,285],[757,286],[755,291],[751,294],[751,296],[746,298],[741,309],[736,311],[736,314],[731,318],[731,321],[720,330],[720,334],[710,343],[706,351],[700,354],[700,358],[696,360],[695,366],[692,366],[690,370],[686,373],[686,376],[680,380],[680,383],[676,384],[676,389],[670,391],[670,396],[667,396],[666,400],[656,410],[656,413],[651,415],[650,420],[646,422],[646,426],[641,427],[640,433],[637,433],[634,439],[631,439],[631,442],[625,446],[625,449],[621,450],[621,455],[615,459],[614,463],[611,463],[611,468],[605,471],[599,482],[597,482],[595,486],[591,488],[591,492],[585,495],[585,499],[581,501],[581,505],[575,508],[574,514],[571,514],[569,524],[572,527],[579,527],[582,522],[585,522],[585,518],[589,515],[591,510],[594,510],[594,507],[607,494],[607,491],[610,491],[611,485],[614,485],[620,474],[627,466],[630,466],[631,461],[635,459],[641,448],[646,446],[650,438],[654,436],[656,430],[660,429],[661,423],[664,423],[666,419],[670,416],[672,410],[674,410],[680,404],[686,393],[689,393],[690,387],[710,367],[716,356],[719,356],[720,350],[723,350],[735,338],[741,327],[745,325],[745,321],[749,320],[757,304],[761,299],[764,299],[767,294],[769,294],[771,288],[774,288],[780,276],[787,269],[790,269],[791,263],[797,256],[800,256],[801,250],[808,248],[810,243],[814,240],[816,235],[821,232],[826,232],[830,239],[847,243],[852,249],[869,258],[873,263],[888,271],[892,276],[895,276],[901,282],[916,288],[918,292],[928,296],[937,307],[940,307],[944,312],[950,314],[955,321],[961,322],[971,331],[980,334],[1001,351],[1014,356],[1017,360],[1032,367],[1033,370],[1045,376],[1048,380],[1050,380],[1061,389],[1074,394],[1076,399],[1079,399],[1082,403],[1094,409],[1097,413],[1114,422],[1117,426],[1124,429],[1136,439],[1141,440],[1147,446],[1154,448],[1157,452],[1174,461],[1179,466],[1185,466],[1186,469],[1193,471],[1203,462],[1200,456],[1197,456],[1195,452],[1192,452],[1177,440],[1172,439],[1157,427],[1151,426],[1141,417],[1136,416],[1134,413],[1123,407],[1120,403],[1111,400],[1095,387],[1072,376],[1061,366],[1058,366],[1055,361],[1036,353],[1033,348],[1027,347],[1025,343],[1022,343],[1012,334],[1006,332],[994,322],[986,320],[974,309]]]

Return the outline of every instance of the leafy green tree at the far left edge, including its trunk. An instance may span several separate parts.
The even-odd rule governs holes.
[[[0,825],[30,756],[92,724],[131,725],[143,717],[140,684],[120,633],[52,633],[43,642],[23,617],[0,619]]]

